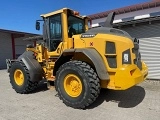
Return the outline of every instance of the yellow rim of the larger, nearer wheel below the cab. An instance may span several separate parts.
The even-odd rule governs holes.
[[[82,92],[82,82],[74,74],[69,74],[64,78],[64,89],[71,97],[78,97]]]

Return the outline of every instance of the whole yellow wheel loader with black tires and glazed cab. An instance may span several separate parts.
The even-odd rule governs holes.
[[[43,22],[43,35],[25,40],[42,42],[27,45],[18,59],[6,60],[17,93],[29,93],[46,79],[67,106],[83,109],[96,100],[101,88],[126,90],[146,79],[139,40],[112,27],[114,13],[104,27],[96,28],[88,27],[88,17],[68,8],[41,17],[36,29]]]

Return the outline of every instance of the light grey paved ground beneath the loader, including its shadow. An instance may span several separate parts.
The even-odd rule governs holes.
[[[0,70],[0,120],[160,120],[160,82],[145,81],[126,91],[102,90],[86,110],[65,106],[55,90],[40,84],[32,94],[17,94]]]

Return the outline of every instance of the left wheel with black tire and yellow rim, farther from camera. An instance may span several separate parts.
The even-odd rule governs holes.
[[[30,81],[29,71],[22,62],[13,63],[9,77],[12,88],[20,94],[30,93],[38,86],[38,82]]]

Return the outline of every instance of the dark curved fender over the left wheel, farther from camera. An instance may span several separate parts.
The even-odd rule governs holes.
[[[35,59],[33,52],[26,51],[18,57],[17,61],[22,61],[27,67],[30,74],[30,81],[36,82],[42,80],[43,69]]]

